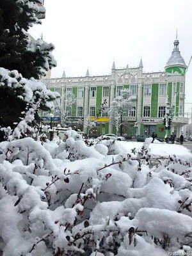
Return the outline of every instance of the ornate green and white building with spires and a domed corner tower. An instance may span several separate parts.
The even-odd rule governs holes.
[[[125,117],[127,127],[123,133],[126,136],[135,134],[151,135],[157,133],[164,138],[165,129],[163,117],[166,101],[169,98],[173,108],[172,131],[179,138],[182,127],[188,124],[184,117],[185,80],[187,65],[180,55],[179,40],[174,41],[172,55],[164,67],[163,72],[143,72],[143,62],[138,67],[111,68],[111,74],[106,76],[90,76],[87,70],[84,77],[66,77],[65,72],[60,78],[44,79],[44,83],[61,94],[61,108],[65,106],[65,92],[71,90],[77,97],[76,105],[70,109],[72,125],[77,120],[94,117],[100,104],[107,100],[106,111],[97,119],[97,126],[93,134],[115,133],[115,127],[109,122],[108,109],[115,97],[120,97],[124,88],[131,91],[132,109]],[[74,121],[73,121],[74,120]],[[84,127],[86,133],[86,127]]]

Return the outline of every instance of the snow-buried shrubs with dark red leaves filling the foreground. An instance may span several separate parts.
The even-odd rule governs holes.
[[[0,255],[192,255],[191,154],[151,141],[0,143]]]

